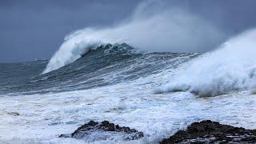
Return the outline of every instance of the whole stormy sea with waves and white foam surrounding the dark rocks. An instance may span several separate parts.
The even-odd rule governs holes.
[[[256,30],[207,53],[79,38],[50,60],[0,64],[0,143],[158,143],[205,119],[256,129]],[[58,138],[90,120],[145,137]]]

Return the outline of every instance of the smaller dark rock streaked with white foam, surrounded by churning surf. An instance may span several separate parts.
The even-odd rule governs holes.
[[[114,125],[108,121],[94,122],[90,121],[83,126],[78,127],[72,134],[62,134],[60,138],[78,138],[85,139],[87,142],[94,141],[130,141],[144,137],[142,132],[129,127]]]

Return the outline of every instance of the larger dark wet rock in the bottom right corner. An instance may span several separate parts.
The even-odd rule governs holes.
[[[210,120],[194,122],[160,144],[171,143],[256,143],[256,130],[222,125]]]

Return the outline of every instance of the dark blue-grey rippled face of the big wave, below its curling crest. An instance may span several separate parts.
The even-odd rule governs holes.
[[[126,43],[90,46],[86,51],[65,53],[63,58],[56,56],[50,59],[47,66],[47,61],[1,64],[6,66],[4,70],[0,70],[2,79],[10,78],[10,81],[0,82],[2,87],[0,94],[58,93],[130,82],[151,74],[158,74],[167,68],[174,69],[198,55],[143,53]],[[58,51],[58,54],[62,54],[62,50]],[[66,58],[69,61],[66,61]],[[78,59],[75,60],[76,58]],[[45,72],[53,71],[40,74],[40,70],[45,66]],[[62,67],[54,70],[58,66]],[[6,70],[12,69],[14,74],[6,73]],[[15,74],[18,74],[18,78],[14,78]]]

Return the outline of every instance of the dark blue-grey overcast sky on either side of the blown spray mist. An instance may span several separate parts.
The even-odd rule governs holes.
[[[66,34],[111,26],[133,14],[139,0],[1,0],[0,62],[50,58]],[[236,34],[256,26],[255,0],[173,0]]]

